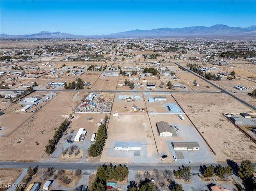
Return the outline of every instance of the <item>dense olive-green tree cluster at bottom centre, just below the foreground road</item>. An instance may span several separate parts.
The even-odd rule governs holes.
[[[92,183],[90,190],[92,191],[104,191],[106,190],[106,183],[110,181],[123,181],[128,176],[129,171],[126,165],[119,164],[118,166],[100,165],[97,169],[96,177]]]

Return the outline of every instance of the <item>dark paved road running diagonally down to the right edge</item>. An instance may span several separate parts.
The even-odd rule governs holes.
[[[226,91],[225,89],[219,87],[218,85],[212,83],[211,81],[209,81],[209,80],[207,80],[206,78],[202,77],[201,75],[195,73],[194,71],[192,71],[192,70],[190,70],[190,69],[187,69],[187,68],[185,68],[185,67],[183,67],[183,66],[177,64],[176,62],[175,62],[175,64],[178,65],[178,66],[180,66],[180,67],[182,67],[182,68],[184,68],[184,69],[186,69],[186,71],[188,71],[188,72],[194,74],[196,77],[198,77],[198,78],[200,78],[200,79],[206,81],[206,82],[209,83],[210,85],[216,87],[217,89],[219,89],[219,90],[221,91],[221,93],[226,93],[226,94],[232,96],[233,98],[235,98],[236,100],[242,102],[242,103],[245,104],[246,106],[248,106],[248,107],[250,107],[250,108],[256,110],[256,107],[254,107],[253,105],[251,105],[251,104],[249,104],[248,102],[246,102],[246,101],[244,101],[244,100],[242,100],[242,99],[240,99],[240,98],[234,96],[232,93],[230,93],[230,92]]]

